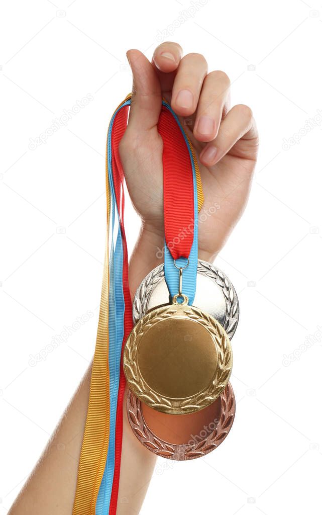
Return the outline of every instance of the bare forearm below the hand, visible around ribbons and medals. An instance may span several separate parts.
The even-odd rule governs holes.
[[[149,229],[140,231],[129,265],[132,298],[141,280],[162,261],[156,256],[157,247],[162,248],[162,245],[162,235],[155,234]],[[90,393],[91,370],[92,365],[66,408],[41,459],[9,511],[10,515],[71,514]],[[119,484],[119,499],[123,502],[119,503],[118,515],[139,511],[155,464],[155,456],[134,437],[126,419],[126,410],[123,428]]]

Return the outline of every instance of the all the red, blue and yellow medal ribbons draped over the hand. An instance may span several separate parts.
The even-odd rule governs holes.
[[[121,358],[133,325],[123,220],[124,174],[118,146],[126,130],[130,102],[131,95],[118,106],[108,133],[106,201],[111,215],[108,216],[99,328],[73,515],[115,515],[117,508],[126,388]],[[183,274],[183,293],[192,302],[198,258],[196,219],[198,203],[201,208],[203,202],[199,169],[192,146],[165,101],[158,130],[164,141],[166,281],[171,295],[177,294],[175,265],[184,267],[189,259]]]

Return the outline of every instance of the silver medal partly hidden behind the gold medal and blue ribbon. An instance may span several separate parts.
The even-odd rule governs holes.
[[[171,302],[164,265],[159,265],[148,273],[136,290],[133,301],[134,323],[153,308]],[[230,339],[234,336],[239,318],[236,290],[219,268],[202,260],[198,260],[193,305],[218,320]]]

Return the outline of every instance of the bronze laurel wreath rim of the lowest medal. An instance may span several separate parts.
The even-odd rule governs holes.
[[[235,396],[230,383],[221,394],[221,415],[214,430],[204,439],[193,443],[172,444],[157,438],[148,427],[142,413],[141,402],[129,391],[127,399],[128,419],[138,440],[154,454],[173,460],[195,459],[213,451],[230,431],[235,417]]]

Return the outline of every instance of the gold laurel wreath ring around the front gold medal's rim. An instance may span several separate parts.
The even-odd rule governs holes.
[[[218,366],[207,388],[184,401],[175,400],[158,395],[140,375],[136,363],[140,338],[153,324],[172,317],[176,313],[173,306],[158,308],[141,318],[132,330],[124,348],[124,373],[131,390],[148,406],[169,414],[193,413],[211,404],[227,385],[232,367],[230,341],[221,324],[193,306],[182,309],[187,318],[200,323],[210,332],[217,348]]]

